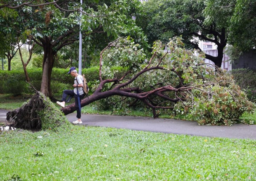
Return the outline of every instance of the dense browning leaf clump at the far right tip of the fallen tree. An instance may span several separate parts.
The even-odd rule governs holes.
[[[191,107],[183,107],[184,112],[188,112],[186,118],[209,125],[229,126],[242,122],[239,120],[242,113],[253,112],[255,105],[247,100],[239,86],[230,86],[233,87],[228,90],[228,87],[217,84],[211,87],[211,91],[198,94],[200,98],[195,97],[194,102],[189,104]]]

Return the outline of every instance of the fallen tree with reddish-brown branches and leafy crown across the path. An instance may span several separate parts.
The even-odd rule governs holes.
[[[81,106],[118,95],[142,101],[154,118],[156,110],[169,109],[188,120],[212,125],[241,122],[243,112],[255,109],[229,73],[204,63],[204,54],[185,49],[180,38],[167,45],[156,42],[151,58],[145,58],[140,46],[129,38],[109,43],[100,53],[99,84]],[[127,72],[118,78],[116,72],[110,72],[113,65]],[[76,108],[71,104],[61,110],[67,115]]]

